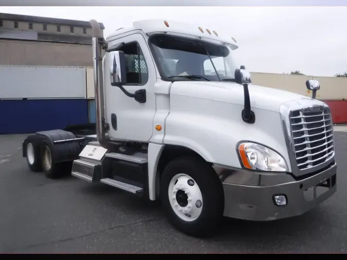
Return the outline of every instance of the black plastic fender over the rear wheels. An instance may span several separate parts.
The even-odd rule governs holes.
[[[71,132],[61,129],[37,132],[36,135],[46,138],[51,143],[54,163],[78,159],[81,152],[80,142],[85,139],[76,138]]]

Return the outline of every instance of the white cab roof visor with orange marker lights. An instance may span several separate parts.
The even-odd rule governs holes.
[[[133,22],[132,27],[119,28],[118,30],[108,35],[107,39],[111,40],[111,38],[114,38],[119,34],[133,30],[142,30],[145,34],[148,35],[156,33],[169,33],[177,36],[196,36],[197,38],[201,38],[203,40],[205,39],[227,44],[231,47],[231,49],[238,48],[236,41],[231,36],[220,33],[219,31],[216,31],[214,28],[206,28],[184,22],[159,19],[141,20]]]

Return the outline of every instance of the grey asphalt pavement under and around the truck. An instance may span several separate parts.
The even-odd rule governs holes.
[[[211,238],[184,235],[157,202],[68,176],[29,171],[25,135],[0,136],[0,253],[347,253],[347,127],[335,132],[337,192],[283,220],[224,220]]]

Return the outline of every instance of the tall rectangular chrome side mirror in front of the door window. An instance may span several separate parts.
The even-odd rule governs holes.
[[[125,54],[123,51],[111,51],[108,55],[111,85],[120,87],[126,84]]]

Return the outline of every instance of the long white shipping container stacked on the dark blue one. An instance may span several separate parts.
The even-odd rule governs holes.
[[[85,67],[0,66],[0,99],[86,99]]]

